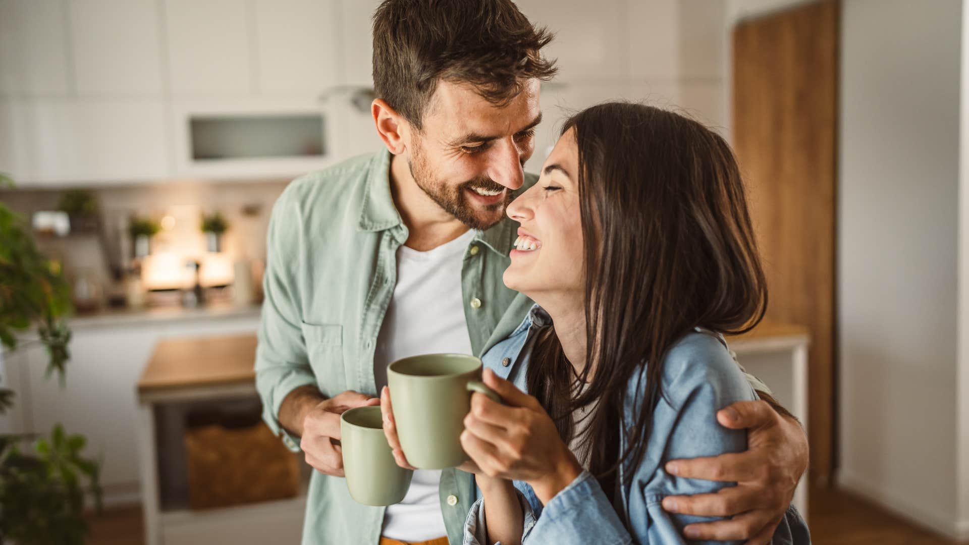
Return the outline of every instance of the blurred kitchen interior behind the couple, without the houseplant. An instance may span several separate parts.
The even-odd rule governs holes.
[[[772,301],[737,350],[807,425],[815,542],[969,539],[963,3],[516,3],[560,67],[526,170],[614,98],[735,145]],[[64,385],[29,332],[0,357],[0,433],[86,436],[91,543],[298,535],[306,468],[251,418],[266,224],[294,177],[381,147],[376,5],[0,0],[0,201],[77,308]],[[285,478],[206,480],[227,437]]]

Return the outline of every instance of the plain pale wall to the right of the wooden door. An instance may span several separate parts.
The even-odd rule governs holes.
[[[838,137],[839,482],[950,534],[960,9],[843,3]]]

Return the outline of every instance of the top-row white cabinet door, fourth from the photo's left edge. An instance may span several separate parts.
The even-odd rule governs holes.
[[[319,94],[338,83],[335,0],[255,0],[261,94]]]

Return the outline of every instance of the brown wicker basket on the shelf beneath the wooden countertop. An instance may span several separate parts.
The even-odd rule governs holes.
[[[299,492],[297,457],[266,424],[185,431],[189,506],[226,507],[294,497]]]

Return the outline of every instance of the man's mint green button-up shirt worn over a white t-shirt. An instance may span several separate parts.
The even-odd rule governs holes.
[[[279,425],[278,414],[295,388],[311,384],[327,397],[346,390],[377,395],[374,349],[396,282],[396,251],[408,236],[391,198],[390,165],[382,150],[301,176],[272,208],[256,388],[264,420],[294,452],[299,439]],[[526,175],[522,190],[536,179]],[[502,282],[516,230],[505,218],[477,232],[464,254],[464,315],[479,356],[511,334],[532,305]],[[452,543],[461,542],[474,495],[472,475],[443,471],[441,511]],[[302,543],[376,544],[383,520],[384,508],[356,502],[343,478],[313,472]]]

